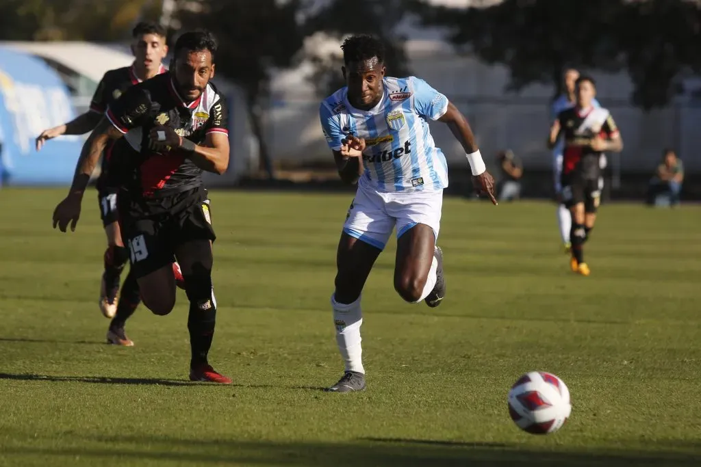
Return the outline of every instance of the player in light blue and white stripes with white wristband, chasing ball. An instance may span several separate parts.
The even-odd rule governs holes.
[[[440,230],[447,164],[428,120],[447,123],[465,149],[475,181],[494,198],[465,117],[421,79],[385,76],[382,43],[371,36],[343,42],[346,87],[320,106],[321,125],[341,179],[358,183],[336,256],[331,298],[336,342],[346,368],[329,391],[365,389],[360,345],[360,295],[375,260],[397,229],[394,286],[407,302],[437,307],[445,297]]]

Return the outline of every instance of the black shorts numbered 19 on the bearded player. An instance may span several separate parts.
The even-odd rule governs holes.
[[[121,192],[118,209],[122,241],[129,248],[136,277],[173,263],[179,245],[217,238],[210,200],[203,188],[147,201],[131,200],[128,192]]]

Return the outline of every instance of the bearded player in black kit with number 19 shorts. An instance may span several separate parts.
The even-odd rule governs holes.
[[[62,232],[69,223],[75,229],[100,153],[111,140],[126,141],[130,150],[118,155],[131,176],[118,193],[118,212],[144,305],[160,315],[172,310],[175,256],[190,301],[190,379],[229,384],[207,361],[217,314],[215,232],[201,175],[222,174],[229,166],[226,102],[210,83],[216,50],[209,33],[186,32],[175,43],[170,71],[129,88],[109,106],[83,146],[73,185],[53,222]]]

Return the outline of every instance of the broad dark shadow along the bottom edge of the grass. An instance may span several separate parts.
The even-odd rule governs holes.
[[[643,466],[692,467],[701,465],[701,456],[667,451],[651,452],[557,452],[517,449],[485,442],[449,442],[372,438],[346,443],[320,442],[243,442],[198,440],[154,436],[116,436],[76,440],[74,447],[13,447],[9,455],[54,456],[54,465],[70,462],[76,456],[92,459],[95,465],[116,458],[153,466],[173,461],[192,465],[251,466]],[[67,444],[71,444],[70,442]],[[82,445],[82,446],[81,446]],[[654,447],[653,447],[654,448]],[[665,449],[660,446],[660,449]],[[64,457],[65,459],[61,459]],[[18,459],[19,460],[19,459]]]

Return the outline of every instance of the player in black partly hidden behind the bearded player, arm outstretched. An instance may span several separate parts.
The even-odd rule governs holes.
[[[132,30],[134,39],[131,50],[135,60],[130,67],[107,71],[97,85],[90,110],[69,123],[44,130],[36,138],[36,151],[41,150],[49,139],[62,134],[84,134],[95,129],[107,110],[125,90],[132,85],[161,74],[165,67],[161,63],[168,53],[165,45],[165,28],[152,22],[139,22]],[[134,342],[127,337],[124,323],[139,305],[139,286],[134,274],[129,272],[124,279],[117,303],[119,279],[129,260],[128,250],[123,246],[117,222],[116,196],[121,178],[120,144],[111,143],[102,155],[102,167],[97,178],[97,202],[100,205],[100,218],[107,234],[107,250],[104,252],[104,272],[100,284],[100,311],[112,321],[107,330],[107,342],[131,347]],[[175,272],[177,265],[174,264]]]

